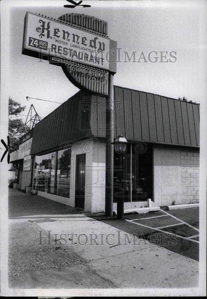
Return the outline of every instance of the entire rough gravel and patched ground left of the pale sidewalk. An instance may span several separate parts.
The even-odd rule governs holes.
[[[47,219],[48,220],[48,219]],[[33,221],[9,225],[8,283],[23,289],[108,289],[116,288],[87,265],[87,261],[67,246],[38,245],[38,230]],[[42,236],[47,235],[42,232]],[[44,244],[45,243],[45,244]],[[51,235],[51,243],[52,241]]]

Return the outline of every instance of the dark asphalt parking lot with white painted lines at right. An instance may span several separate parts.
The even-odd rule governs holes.
[[[199,208],[159,210],[124,215],[123,220],[101,219],[120,230],[136,235],[183,256],[199,260]]]

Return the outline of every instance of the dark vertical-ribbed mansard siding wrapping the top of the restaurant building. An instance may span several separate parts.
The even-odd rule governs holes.
[[[82,109],[81,102],[88,108]],[[105,137],[105,107],[103,97],[79,91],[35,125],[31,154],[89,135]],[[114,109],[115,137],[199,147],[197,104],[114,86]]]

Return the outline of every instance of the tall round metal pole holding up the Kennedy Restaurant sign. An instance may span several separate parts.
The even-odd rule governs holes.
[[[113,171],[114,171],[114,84],[109,72],[109,94],[106,97],[106,191],[105,215],[113,215]]]

